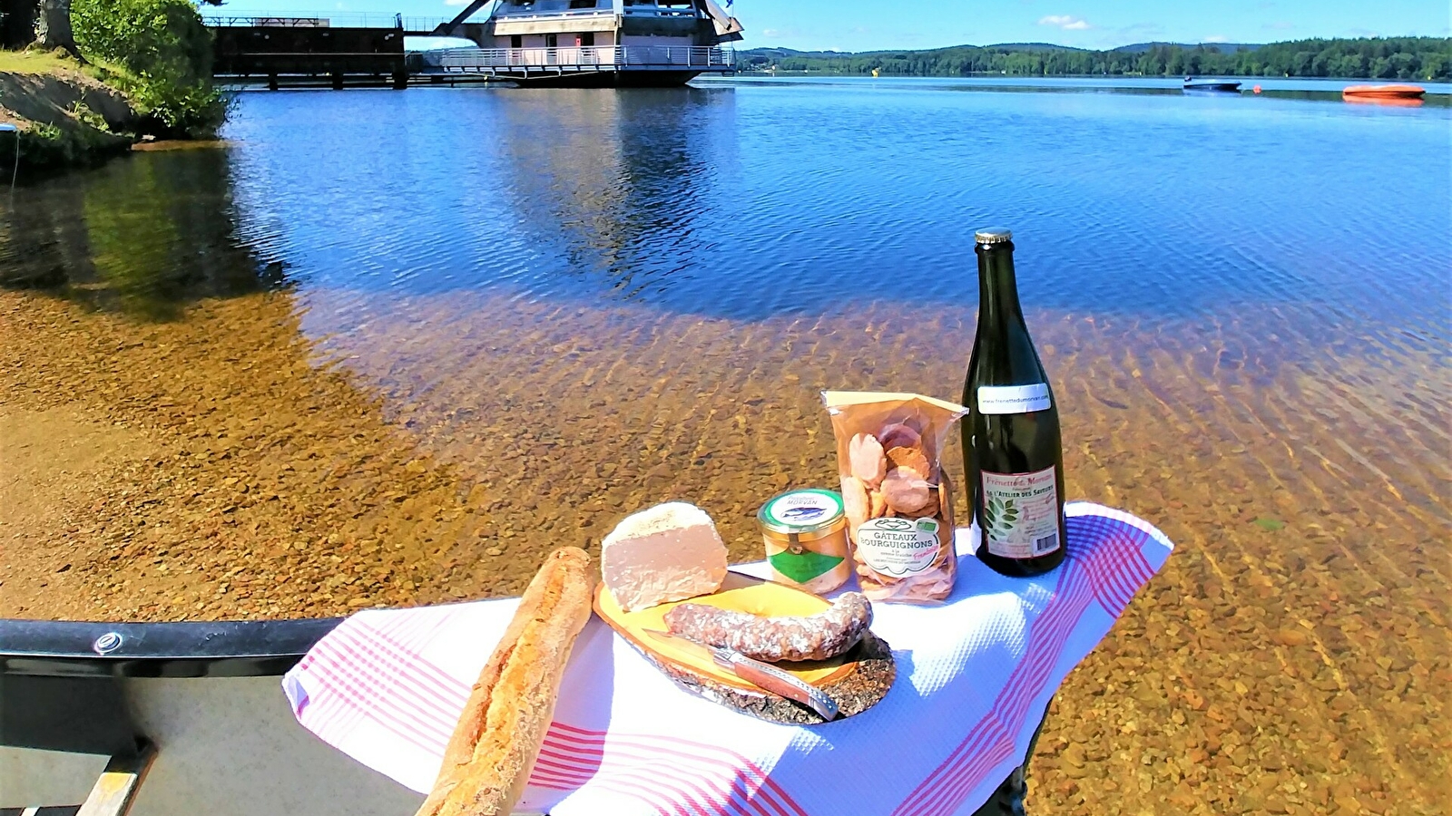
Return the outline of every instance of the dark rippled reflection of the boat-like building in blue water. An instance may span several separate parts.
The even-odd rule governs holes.
[[[697,221],[735,155],[730,89],[543,93],[504,110],[504,190],[521,227],[556,263],[626,299],[707,253]],[[536,270],[536,276],[544,270]]]

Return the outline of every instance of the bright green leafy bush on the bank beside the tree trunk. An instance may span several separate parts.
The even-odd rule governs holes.
[[[168,135],[206,136],[227,116],[212,87],[212,35],[187,0],[74,0],[81,51],[121,67],[116,84]]]

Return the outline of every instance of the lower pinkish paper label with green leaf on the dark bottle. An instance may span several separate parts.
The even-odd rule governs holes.
[[[1002,558],[1038,558],[1063,546],[1053,466],[1034,473],[983,470],[983,540]]]

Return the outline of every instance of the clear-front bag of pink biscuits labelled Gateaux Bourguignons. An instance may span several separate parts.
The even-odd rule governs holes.
[[[939,456],[967,408],[918,393],[826,391],[842,510],[862,594],[926,604],[953,592],[953,486]]]

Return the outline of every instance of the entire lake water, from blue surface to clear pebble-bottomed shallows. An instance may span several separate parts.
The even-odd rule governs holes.
[[[1031,812],[1448,813],[1449,122],[932,80],[241,94],[225,148],[3,202],[0,616],[518,594],[672,498],[758,559],[759,504],[835,482],[819,391],[958,396],[1003,224],[1069,498],[1178,544],[1060,690]]]

